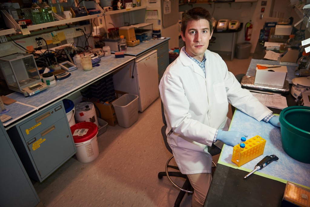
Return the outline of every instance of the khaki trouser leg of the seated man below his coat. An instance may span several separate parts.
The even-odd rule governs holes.
[[[202,207],[212,180],[211,173],[188,174],[187,177],[194,188],[192,206]]]

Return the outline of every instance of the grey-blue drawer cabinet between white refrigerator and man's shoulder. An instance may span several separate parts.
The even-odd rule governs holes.
[[[165,41],[154,49],[157,50],[158,81],[160,81],[169,65],[169,42]]]

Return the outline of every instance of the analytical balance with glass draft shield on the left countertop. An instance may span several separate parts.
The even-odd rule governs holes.
[[[33,55],[15,53],[0,58],[0,68],[10,90],[30,96],[48,88],[40,79]]]

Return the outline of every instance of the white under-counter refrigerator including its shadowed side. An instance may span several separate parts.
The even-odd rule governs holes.
[[[139,96],[139,112],[159,97],[157,51],[143,54],[113,74],[115,90]]]

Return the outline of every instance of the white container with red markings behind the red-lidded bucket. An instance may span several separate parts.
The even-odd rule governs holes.
[[[93,122],[98,127],[95,105],[91,102],[81,102],[76,104],[74,117],[77,123]]]

